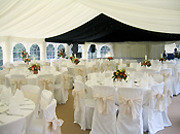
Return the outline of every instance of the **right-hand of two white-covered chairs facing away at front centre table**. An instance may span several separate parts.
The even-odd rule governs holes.
[[[117,134],[143,134],[142,101],[143,89],[119,87],[116,121]]]

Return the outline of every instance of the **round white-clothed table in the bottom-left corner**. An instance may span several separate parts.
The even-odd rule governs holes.
[[[16,114],[9,114],[8,108],[3,111],[2,107],[3,105],[0,105],[1,134],[21,134],[28,129],[33,119],[35,109],[33,101],[24,98],[24,102],[20,104],[20,111]]]

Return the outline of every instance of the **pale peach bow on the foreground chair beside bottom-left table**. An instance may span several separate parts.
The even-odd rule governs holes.
[[[61,126],[64,123],[62,119],[54,118],[52,120],[46,119],[46,133],[61,134]]]

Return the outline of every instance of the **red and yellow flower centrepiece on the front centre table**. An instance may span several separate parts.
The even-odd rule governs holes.
[[[118,79],[118,78],[126,80],[126,78],[127,78],[126,70],[125,69],[122,69],[122,70],[117,69],[117,71],[115,71],[113,73],[112,78],[114,81],[115,81],[115,79]]]

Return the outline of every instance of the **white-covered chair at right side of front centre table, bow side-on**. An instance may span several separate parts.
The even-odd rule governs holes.
[[[166,110],[166,106],[163,92],[164,82],[153,85],[149,105],[143,106],[143,131],[149,131],[149,134],[155,134],[164,129],[162,112]]]

